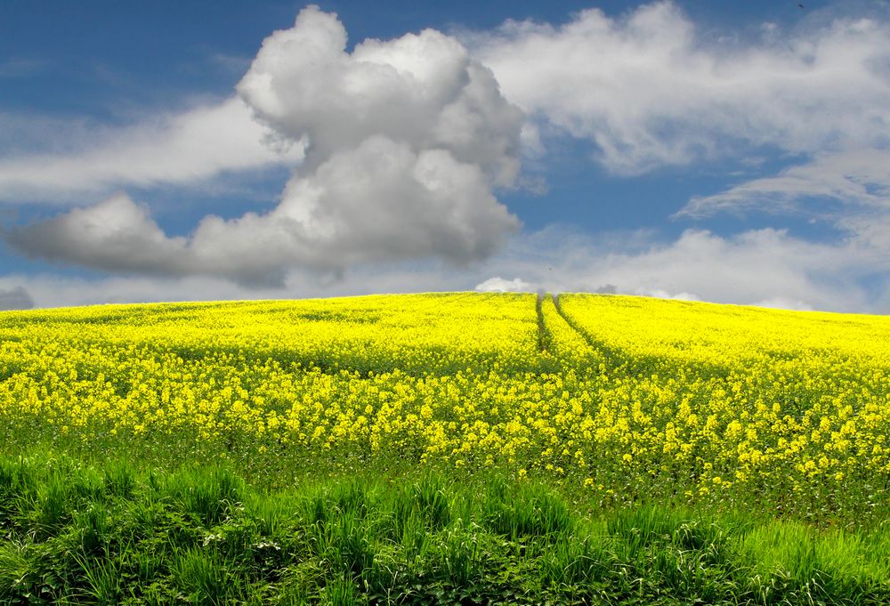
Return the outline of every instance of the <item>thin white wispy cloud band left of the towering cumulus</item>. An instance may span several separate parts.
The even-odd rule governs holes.
[[[97,141],[84,141],[88,131],[81,127],[79,149],[0,158],[0,199],[72,202],[125,185],[194,183],[303,157],[299,145],[273,144],[270,131],[237,98],[96,135]]]

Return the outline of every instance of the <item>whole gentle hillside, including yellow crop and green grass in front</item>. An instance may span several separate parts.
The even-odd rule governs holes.
[[[888,343],[616,295],[4,312],[0,598],[887,602]]]

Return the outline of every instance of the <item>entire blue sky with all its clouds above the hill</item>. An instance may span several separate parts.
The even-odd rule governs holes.
[[[0,306],[890,311],[884,2],[4,3]]]

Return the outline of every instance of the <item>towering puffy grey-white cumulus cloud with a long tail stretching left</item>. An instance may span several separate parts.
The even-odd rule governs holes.
[[[188,238],[170,238],[117,194],[7,240],[28,255],[108,271],[269,284],[295,267],[467,263],[519,226],[492,189],[518,173],[522,111],[453,37],[426,29],[348,53],[336,15],[310,6],[266,38],[237,88],[272,143],[304,150],[271,212],[209,215]]]

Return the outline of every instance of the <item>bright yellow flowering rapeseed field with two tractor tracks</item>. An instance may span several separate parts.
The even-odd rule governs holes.
[[[883,317],[379,295],[5,312],[0,343],[7,450],[493,469],[829,515],[890,481]]]

